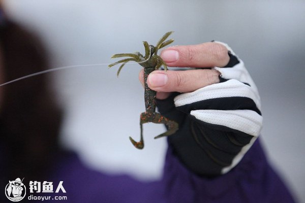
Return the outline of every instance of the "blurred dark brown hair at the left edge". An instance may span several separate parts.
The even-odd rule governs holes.
[[[46,52],[33,33],[6,21],[0,47],[5,81],[47,69]],[[58,151],[61,112],[47,85],[46,75],[28,78],[4,87],[0,110],[0,155],[5,156],[8,180],[45,176]],[[0,144],[1,145],[1,144]]]

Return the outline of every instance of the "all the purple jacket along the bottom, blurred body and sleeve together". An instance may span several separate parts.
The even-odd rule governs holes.
[[[191,173],[169,147],[162,180],[139,182],[86,168],[76,155],[66,155],[53,168],[54,182],[64,181],[65,202],[294,202],[266,161],[257,140],[229,173],[204,178]],[[46,202],[46,201],[45,201]]]

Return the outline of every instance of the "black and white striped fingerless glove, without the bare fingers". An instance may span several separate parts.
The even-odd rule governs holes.
[[[230,171],[253,145],[262,128],[260,97],[244,63],[227,44],[230,61],[214,67],[220,83],[158,100],[161,114],[176,120],[170,136],[174,153],[190,170],[215,176]]]

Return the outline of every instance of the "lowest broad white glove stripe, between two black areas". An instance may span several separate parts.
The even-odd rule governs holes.
[[[263,117],[252,110],[194,110],[191,115],[206,123],[222,125],[258,137]]]

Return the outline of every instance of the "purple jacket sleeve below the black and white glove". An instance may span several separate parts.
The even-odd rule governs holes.
[[[191,173],[169,148],[162,181],[168,202],[294,202],[259,140],[236,167],[214,178]]]

